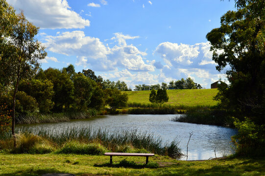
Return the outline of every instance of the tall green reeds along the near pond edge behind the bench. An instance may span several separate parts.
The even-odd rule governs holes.
[[[24,128],[21,129],[20,133],[34,133],[35,135],[56,144],[58,148],[64,147],[70,141],[78,141],[82,145],[87,143],[98,143],[113,152],[117,152],[121,148],[126,149],[124,146],[130,146],[131,148],[138,149],[136,150],[138,152],[141,152],[142,150],[144,152],[147,151],[159,155],[168,155],[176,159],[179,159],[182,156],[177,139],[172,142],[164,142],[161,137],[154,137],[153,134],[138,132],[137,130],[119,130],[110,132],[106,129],[93,130],[92,127],[89,127],[79,129],[66,128],[64,130],[58,129],[51,132],[50,130],[44,129],[34,131],[33,129]],[[4,140],[8,141],[11,137],[12,135],[9,133]],[[3,139],[0,137],[0,140]],[[122,152],[123,151],[124,150],[122,150]]]

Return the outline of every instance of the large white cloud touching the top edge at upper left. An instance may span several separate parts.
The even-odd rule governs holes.
[[[84,28],[89,20],[71,10],[67,0],[7,0],[17,12],[24,11],[29,22],[41,28]]]

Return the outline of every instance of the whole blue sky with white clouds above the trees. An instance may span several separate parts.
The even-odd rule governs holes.
[[[72,64],[128,87],[191,77],[203,88],[219,78],[206,35],[233,0],[7,0],[40,27],[42,68]]]

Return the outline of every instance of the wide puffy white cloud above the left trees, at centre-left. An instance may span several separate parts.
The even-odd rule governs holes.
[[[76,56],[76,64],[91,67],[98,71],[117,70],[126,68],[130,71],[154,71],[154,66],[145,64],[143,56],[145,52],[136,46],[126,44],[128,39],[136,39],[139,36],[123,35],[115,33],[118,45],[109,48],[100,42],[98,38],[85,36],[83,31],[60,33],[57,36],[45,36],[45,45],[49,51]]]

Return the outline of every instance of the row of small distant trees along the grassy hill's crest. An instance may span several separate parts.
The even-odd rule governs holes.
[[[181,80],[178,81],[170,81],[169,85],[167,83],[162,83],[162,85],[160,86],[160,84],[156,84],[156,85],[151,85],[150,86],[150,90],[158,90],[159,88],[162,89],[201,89],[201,85],[194,83],[192,78],[187,78],[186,80],[184,80],[184,78],[182,78]],[[149,89],[149,86],[146,86],[145,84],[143,85],[136,85],[134,90],[136,91],[141,91],[141,90],[146,90]]]

